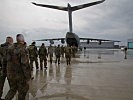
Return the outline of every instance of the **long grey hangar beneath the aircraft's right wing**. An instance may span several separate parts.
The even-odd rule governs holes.
[[[81,48],[106,48],[106,49],[119,49],[120,41],[91,41],[91,42],[80,42]]]

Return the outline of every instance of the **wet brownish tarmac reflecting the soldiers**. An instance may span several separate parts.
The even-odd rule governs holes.
[[[133,50],[89,49],[36,71],[26,100],[133,100]],[[9,90],[8,82],[3,97]],[[17,100],[17,96],[13,100]]]

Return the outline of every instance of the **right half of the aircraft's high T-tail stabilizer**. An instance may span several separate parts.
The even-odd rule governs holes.
[[[78,6],[73,6],[72,7],[72,11],[76,11],[76,10],[79,10],[79,9],[82,9],[82,8],[86,8],[86,7],[89,7],[89,6],[97,5],[97,4],[100,4],[100,3],[104,2],[104,1],[105,0],[101,0],[101,1],[91,2],[91,3],[82,4],[82,5],[78,5]]]

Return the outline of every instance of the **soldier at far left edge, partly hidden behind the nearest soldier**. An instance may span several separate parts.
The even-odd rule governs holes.
[[[5,79],[7,77],[7,50],[9,46],[11,46],[13,43],[13,38],[12,37],[7,37],[6,42],[4,44],[1,44],[0,47],[0,56],[1,56],[1,75],[0,75],[0,100],[2,97],[3,93],[3,87],[5,83]]]

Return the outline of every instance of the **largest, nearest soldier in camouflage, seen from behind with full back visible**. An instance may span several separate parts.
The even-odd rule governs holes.
[[[31,69],[23,35],[18,34],[16,40],[17,43],[10,46],[7,52],[7,79],[10,90],[5,100],[12,100],[16,92],[18,92],[18,100],[25,100],[29,90]]]

